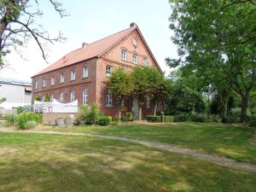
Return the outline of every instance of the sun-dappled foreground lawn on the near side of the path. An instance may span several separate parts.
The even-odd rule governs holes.
[[[0,191],[253,192],[256,174],[99,138],[0,133]]]

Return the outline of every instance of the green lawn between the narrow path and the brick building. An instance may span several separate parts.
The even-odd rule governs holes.
[[[253,144],[253,129],[245,126],[177,123],[177,124],[130,124],[108,127],[73,127],[52,131],[88,132],[108,136],[130,137],[160,143],[170,143],[183,148],[192,148],[218,154],[230,159],[256,164],[256,145]]]

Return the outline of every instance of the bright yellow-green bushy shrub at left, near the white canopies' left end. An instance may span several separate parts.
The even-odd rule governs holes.
[[[20,113],[17,116],[17,127],[21,130],[26,129],[26,123],[28,121],[35,121],[37,124],[42,123],[42,115],[38,113],[32,113],[32,112],[27,112],[27,113]]]

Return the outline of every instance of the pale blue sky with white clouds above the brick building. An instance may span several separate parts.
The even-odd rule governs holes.
[[[131,22],[136,22],[160,67],[166,73],[170,72],[166,67],[165,58],[177,57],[177,49],[170,39],[172,31],[169,29],[168,18],[171,8],[168,0],[63,0],[62,3],[70,15],[63,19],[55,13],[49,1],[44,0],[39,4],[44,15],[38,22],[42,23],[50,34],[55,35],[61,31],[67,37],[64,44],[49,44],[49,64],[67,52],[78,49],[83,42],[90,44],[128,28]],[[10,68],[2,70],[0,76],[30,79],[33,74],[49,66],[34,42],[23,49],[23,55],[26,60],[12,52],[8,56]]]

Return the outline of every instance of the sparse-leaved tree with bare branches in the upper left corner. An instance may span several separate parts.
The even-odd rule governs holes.
[[[67,16],[61,3],[56,0],[48,1],[61,17]],[[50,37],[49,33],[38,25],[36,19],[43,15],[38,7],[37,0],[0,1],[0,67],[5,64],[4,57],[10,53],[11,49],[20,53],[20,47],[24,46],[29,39],[33,39],[38,44],[45,61],[47,55],[44,44],[65,40],[61,32],[58,37]]]

